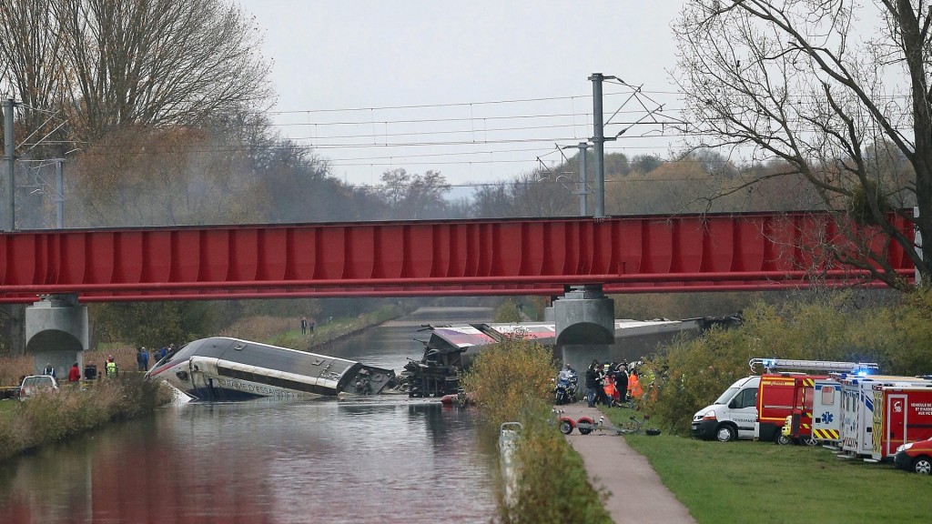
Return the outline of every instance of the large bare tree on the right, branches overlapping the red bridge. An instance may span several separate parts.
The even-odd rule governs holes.
[[[918,205],[932,239],[930,23],[926,0],[694,0],[674,23],[693,145],[785,162],[748,184],[802,175],[823,205],[870,226],[860,245],[882,246],[836,255],[900,289],[884,258],[894,244],[932,269],[932,242],[918,253],[888,214]],[[891,171],[891,158],[911,169]]]

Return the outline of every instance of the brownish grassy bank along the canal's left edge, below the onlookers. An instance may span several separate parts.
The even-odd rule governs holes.
[[[171,401],[171,390],[139,373],[122,373],[84,387],[63,383],[58,392],[25,401],[0,401],[0,461],[41,445],[59,442],[110,421],[152,412]]]

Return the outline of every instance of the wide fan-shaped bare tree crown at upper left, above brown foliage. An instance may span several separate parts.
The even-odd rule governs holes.
[[[217,0],[56,0],[67,95],[89,138],[125,123],[199,125],[265,103],[268,64],[239,7]]]

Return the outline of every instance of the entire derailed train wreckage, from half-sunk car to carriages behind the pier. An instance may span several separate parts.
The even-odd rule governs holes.
[[[698,322],[703,321],[703,322]],[[655,343],[684,330],[702,329],[708,319],[690,321],[615,321],[616,337]],[[334,356],[302,352],[239,338],[202,338],[160,360],[146,377],[164,379],[202,401],[237,401],[262,397],[299,399],[368,394],[444,397],[460,393],[460,372],[483,346],[502,338],[531,338],[555,343],[555,324],[459,324],[434,326],[420,360],[409,359],[398,375],[385,369]],[[629,335],[627,335],[629,334]],[[646,347],[646,346],[645,346]]]

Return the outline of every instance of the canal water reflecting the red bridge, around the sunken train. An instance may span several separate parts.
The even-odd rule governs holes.
[[[419,310],[323,352],[401,371],[419,324],[490,314]],[[489,522],[479,432],[474,408],[406,396],[178,402],[0,464],[0,522]]]

